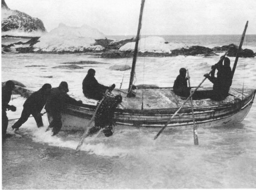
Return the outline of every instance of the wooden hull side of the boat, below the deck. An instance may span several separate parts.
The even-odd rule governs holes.
[[[256,90],[252,90],[242,100],[235,99],[227,104],[195,106],[194,114],[197,127],[215,127],[230,125],[244,120],[255,97]],[[88,123],[95,112],[95,105],[83,105],[77,107],[67,105],[62,113],[62,130],[79,131],[88,127]],[[176,112],[172,109],[117,109],[115,121],[118,127],[122,126],[139,128],[162,128],[170,117]],[[51,116],[48,116],[51,121]],[[93,124],[93,123],[92,123]],[[180,113],[173,118],[167,128],[189,128],[193,126],[192,112],[190,107],[180,110]]]

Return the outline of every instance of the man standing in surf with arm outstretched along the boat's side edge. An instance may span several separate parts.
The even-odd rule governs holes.
[[[49,128],[52,128],[53,135],[55,136],[60,132],[62,127],[61,122],[61,112],[65,109],[65,104],[73,104],[73,105],[82,105],[82,101],[76,101],[74,98],[68,96],[68,83],[66,81],[62,81],[57,88],[52,88],[47,99],[45,110],[48,112],[50,116],[52,116],[52,121],[49,124]]]

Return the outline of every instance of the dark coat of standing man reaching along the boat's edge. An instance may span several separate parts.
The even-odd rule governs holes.
[[[67,93],[60,93],[59,87],[52,88],[46,101],[45,110],[60,113],[64,111],[65,104],[80,105],[81,103],[68,96]]]

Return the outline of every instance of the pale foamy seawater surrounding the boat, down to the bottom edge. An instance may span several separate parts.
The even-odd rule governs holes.
[[[230,43],[227,43],[230,44]],[[224,45],[227,45],[224,44]],[[198,45],[195,43],[195,45]],[[244,48],[244,47],[243,47]],[[139,57],[135,84],[173,85],[180,67],[189,69],[191,85],[218,62],[212,57]],[[234,62],[235,58],[230,58]],[[96,61],[80,65],[83,69],[52,68],[62,62]],[[233,88],[256,89],[256,58],[239,58]],[[128,87],[130,70],[113,71],[113,65],[131,65],[132,58],[103,59],[88,54],[2,54],[2,81],[20,81],[28,89],[38,90],[44,83],[53,87],[67,81],[69,95],[85,101],[82,80],[89,68],[104,84],[120,83]],[[34,66],[32,66],[34,65]],[[32,67],[26,67],[32,66]],[[44,78],[52,76],[52,78]],[[205,81],[204,87],[212,86]],[[13,95],[8,118],[19,118],[25,98]],[[153,140],[158,131],[142,128],[115,130],[107,138],[100,134],[88,138],[75,154],[82,133],[60,132],[51,136],[43,116],[44,128],[38,129],[33,118],[2,141],[3,189],[179,189],[179,188],[255,188],[256,182],[256,105],[243,122],[230,126],[199,128],[199,146],[193,144],[193,131],[171,130]]]

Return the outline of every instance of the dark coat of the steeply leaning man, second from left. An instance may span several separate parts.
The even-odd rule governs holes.
[[[31,94],[30,97],[25,101],[23,107],[24,109],[29,110],[30,112],[41,112],[46,103],[47,97],[44,95],[43,89]]]

